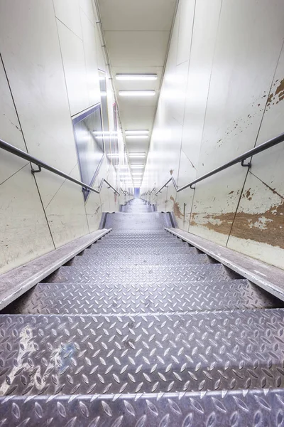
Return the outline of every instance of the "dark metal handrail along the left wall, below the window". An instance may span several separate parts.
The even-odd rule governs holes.
[[[33,174],[37,173],[37,172],[41,172],[41,169],[46,169],[50,172],[53,172],[53,174],[62,176],[62,178],[67,179],[68,181],[72,181],[75,182],[75,184],[78,184],[80,186],[82,186],[82,190],[86,191],[93,191],[94,193],[99,194],[101,189],[102,189],[102,185],[104,184],[104,182],[106,182],[106,184],[109,186],[109,188],[114,190],[114,193],[117,194],[118,196],[120,196],[119,191],[116,191],[116,189],[114,189],[114,187],[109,184],[109,182],[106,179],[102,179],[101,184],[99,184],[99,190],[93,189],[91,186],[84,184],[84,182],[79,181],[78,179],[72,178],[72,176],[69,176],[67,174],[65,174],[65,172],[60,171],[59,169],[56,169],[53,166],[50,166],[49,164],[46,164],[45,162],[42,162],[39,159],[36,159],[35,157],[31,156],[31,154],[28,154],[26,152],[23,152],[21,149],[18,149],[17,147],[14,147],[11,144],[8,144],[8,142],[3,141],[3,139],[0,139],[0,148],[4,149],[5,151],[11,153],[11,154],[15,154],[15,156],[21,157],[21,159],[25,159],[28,160],[28,162],[31,162],[33,164],[38,165],[38,169],[31,169],[31,172]]]

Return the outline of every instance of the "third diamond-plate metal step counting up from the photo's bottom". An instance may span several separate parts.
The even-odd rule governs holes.
[[[6,308],[10,314],[108,314],[283,307],[247,280],[134,285],[40,283]]]

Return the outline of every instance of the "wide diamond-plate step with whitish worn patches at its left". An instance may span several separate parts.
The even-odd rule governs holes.
[[[1,315],[0,393],[279,388],[284,385],[283,327],[283,309]]]

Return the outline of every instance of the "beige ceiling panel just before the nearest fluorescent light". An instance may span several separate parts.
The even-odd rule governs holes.
[[[169,31],[105,31],[112,67],[163,67]]]

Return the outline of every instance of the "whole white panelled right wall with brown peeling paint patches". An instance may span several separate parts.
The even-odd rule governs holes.
[[[282,0],[180,0],[143,191],[178,186],[284,131]],[[284,144],[151,201],[180,228],[284,268]],[[153,193],[154,194],[154,193]]]

